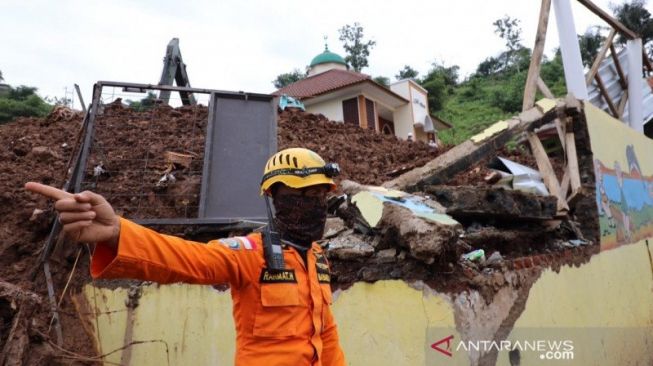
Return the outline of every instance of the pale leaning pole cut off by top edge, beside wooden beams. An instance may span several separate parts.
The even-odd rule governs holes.
[[[585,85],[585,73],[583,72],[583,61],[580,57],[580,46],[576,36],[571,3],[569,0],[553,0],[553,10],[558,24],[560,52],[562,53],[562,66],[565,70],[567,90],[576,98],[587,100],[589,98],[587,86]]]

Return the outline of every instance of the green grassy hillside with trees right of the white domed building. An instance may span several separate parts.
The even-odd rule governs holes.
[[[458,83],[457,67],[448,70],[449,73],[443,72],[447,68],[435,67],[422,80],[429,94],[434,92],[429,95],[431,113],[454,125],[453,129],[438,134],[446,144],[459,144],[521,112],[531,50],[521,44],[519,20],[505,16],[494,25],[496,33],[506,42],[505,51],[486,58],[478,65],[476,73],[463,82]],[[543,60],[540,77],[554,95],[566,95],[559,52],[552,60]],[[428,83],[432,84],[427,87]],[[542,97],[536,95],[536,99]],[[439,99],[439,103],[431,98]]]

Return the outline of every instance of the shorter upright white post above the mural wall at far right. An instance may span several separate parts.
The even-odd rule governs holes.
[[[628,52],[628,124],[635,131],[644,133],[642,112],[642,39],[626,42]]]

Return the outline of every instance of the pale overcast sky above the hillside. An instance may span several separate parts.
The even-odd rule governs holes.
[[[3,0],[0,70],[5,83],[64,95],[78,83],[86,101],[97,80],[157,83],[171,38],[194,87],[274,91],[271,81],[304,69],[324,49],[344,56],[338,29],[359,22],[377,42],[364,73],[394,75],[404,65],[425,73],[434,60],[462,75],[503,48],[492,22],[521,20],[532,47],[540,0],[455,1],[92,1]],[[609,11],[609,0],[595,0]],[[578,33],[604,23],[572,0]],[[653,12],[651,4],[647,5]],[[551,12],[547,52],[558,45]]]

